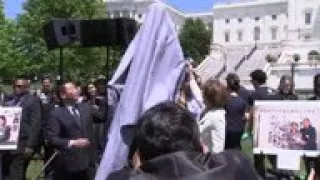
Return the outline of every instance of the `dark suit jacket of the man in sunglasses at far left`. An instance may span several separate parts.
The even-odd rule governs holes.
[[[11,106],[11,103],[7,102],[6,106]],[[19,106],[22,116],[17,152],[23,153],[26,147],[36,148],[40,143],[41,103],[39,98],[25,94],[20,98]]]

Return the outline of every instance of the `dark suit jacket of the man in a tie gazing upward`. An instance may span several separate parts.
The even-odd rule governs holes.
[[[95,141],[93,133],[94,117],[101,117],[88,104],[79,104],[80,124],[66,106],[55,108],[46,125],[46,138],[60,152],[56,159],[59,168],[69,172],[88,170],[94,166]],[[72,139],[88,138],[87,148],[69,148]]]

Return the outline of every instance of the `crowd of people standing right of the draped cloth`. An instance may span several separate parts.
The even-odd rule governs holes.
[[[184,85],[182,91],[191,92],[189,94],[193,94],[193,96],[189,96],[189,104],[186,103],[184,107],[191,111],[194,118],[198,120],[201,139],[211,152],[220,153],[225,150],[241,150],[243,135],[252,133],[255,101],[299,99],[295,94],[293,79],[289,75],[281,77],[278,89],[266,86],[267,75],[262,70],[252,71],[250,77],[254,87],[253,91],[241,86],[239,76],[235,73],[229,73],[225,81],[210,79],[204,84],[197,80],[194,73],[188,74],[188,86]],[[320,75],[318,74],[314,77],[314,96],[309,100],[319,99],[319,85]],[[199,93],[199,91],[202,93]],[[198,104],[198,108],[194,108],[192,106],[194,104]],[[299,147],[301,150],[317,150],[316,133],[314,127],[310,125],[310,120],[303,120],[303,128],[297,130],[295,136],[293,136],[293,129],[290,129],[292,135],[286,136],[288,137],[286,141],[290,142],[288,146]],[[299,142],[294,139],[297,136],[300,137]],[[272,168],[276,169],[277,157],[268,155],[267,158]],[[312,158],[305,158],[304,161],[308,174],[313,167],[316,167],[315,171],[319,174],[318,161]],[[268,176],[269,171],[266,169],[265,155],[255,154],[254,165],[260,177]],[[290,174],[293,175],[289,171],[274,170],[272,172],[273,174],[285,174],[288,177]]]

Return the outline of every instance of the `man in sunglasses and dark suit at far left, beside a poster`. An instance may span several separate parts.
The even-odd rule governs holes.
[[[29,88],[28,79],[18,77],[14,81],[13,99],[5,103],[6,106],[22,108],[18,149],[6,152],[3,156],[3,175],[9,179],[25,179],[27,167],[39,144],[40,100],[29,93]]]

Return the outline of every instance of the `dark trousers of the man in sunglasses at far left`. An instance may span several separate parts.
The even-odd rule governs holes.
[[[5,153],[2,159],[3,177],[8,180],[25,180],[26,171],[30,163],[21,153]]]

